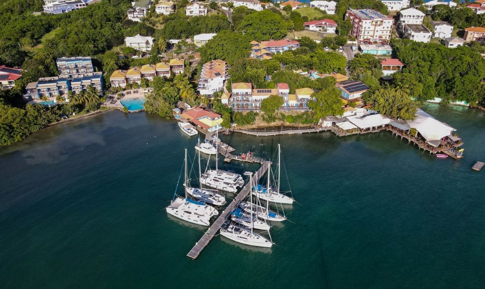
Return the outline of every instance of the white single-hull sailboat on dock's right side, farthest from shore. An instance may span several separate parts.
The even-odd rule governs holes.
[[[252,173],[249,173],[249,182],[250,182],[250,189],[252,190]],[[250,192],[251,194],[251,192]],[[253,216],[250,213],[250,220],[252,223]],[[266,239],[265,237],[254,233],[253,232],[253,225],[250,225],[250,228],[245,228],[241,225],[232,224],[230,221],[226,221],[223,227],[220,228],[220,235],[231,239],[235,242],[246,244],[250,246],[257,246],[257,247],[266,247],[270,248],[273,245],[273,242]]]

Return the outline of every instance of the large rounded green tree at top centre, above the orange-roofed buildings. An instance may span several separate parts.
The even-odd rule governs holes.
[[[269,10],[247,15],[238,26],[251,40],[280,40],[286,37],[286,23],[283,18]]]

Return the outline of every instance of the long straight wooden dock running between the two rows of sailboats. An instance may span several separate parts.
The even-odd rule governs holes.
[[[253,184],[256,184],[257,181],[263,177],[266,174],[266,171],[269,168],[271,162],[266,161],[256,172],[256,174],[253,175]],[[191,249],[189,254],[187,254],[188,257],[192,259],[196,259],[199,257],[200,252],[202,252],[203,248],[205,248],[209,242],[214,238],[214,236],[219,232],[220,227],[222,224],[228,219],[229,215],[231,212],[234,210],[234,208],[239,205],[239,202],[244,200],[250,192],[250,184],[249,182],[241,189],[239,194],[237,194],[236,198],[226,207],[226,209],[219,215],[217,220],[212,223],[212,225],[209,227],[206,233],[200,238],[200,240],[195,243],[194,247]]]

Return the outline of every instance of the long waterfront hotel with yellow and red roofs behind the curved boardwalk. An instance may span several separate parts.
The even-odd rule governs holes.
[[[234,110],[261,110],[261,102],[270,95],[279,95],[283,98],[281,110],[307,110],[308,101],[313,93],[311,88],[300,88],[295,94],[290,94],[286,83],[278,83],[273,89],[252,89],[250,83],[233,83],[229,105]]]

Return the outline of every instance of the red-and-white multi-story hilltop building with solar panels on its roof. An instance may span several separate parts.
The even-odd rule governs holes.
[[[352,22],[352,35],[359,42],[387,43],[393,29],[393,18],[370,9],[349,9],[346,19]]]

